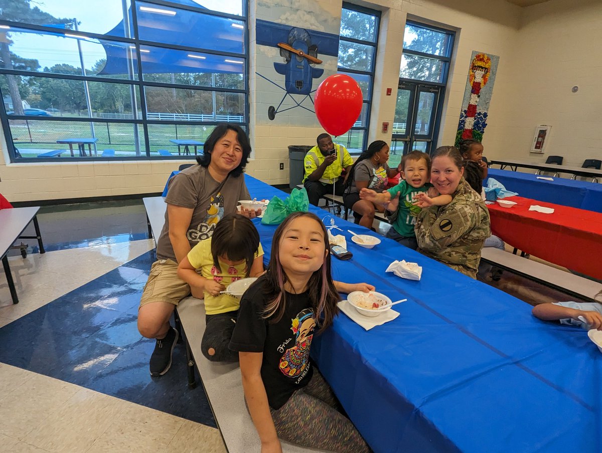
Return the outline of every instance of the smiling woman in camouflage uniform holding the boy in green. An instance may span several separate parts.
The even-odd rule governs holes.
[[[476,279],[481,248],[491,235],[485,202],[464,180],[464,161],[453,146],[435,150],[431,182],[440,194],[452,196],[445,206],[429,206],[415,226],[418,251]]]

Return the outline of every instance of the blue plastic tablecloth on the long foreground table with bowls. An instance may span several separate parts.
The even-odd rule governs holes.
[[[287,194],[246,176],[252,197]],[[310,206],[320,218],[326,211]],[[390,239],[350,240],[337,280],[369,282],[400,316],[369,331],[341,313],[312,356],[377,453],[602,451],[602,354],[583,330],[539,321],[531,307]],[[269,259],[276,226],[254,220]],[[405,259],[420,282],[385,269]]]

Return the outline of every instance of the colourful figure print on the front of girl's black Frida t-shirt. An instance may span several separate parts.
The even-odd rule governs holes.
[[[291,330],[295,335],[295,344],[280,359],[280,371],[291,378],[303,373],[309,363],[309,347],[314,337],[315,318],[311,308],[305,309],[291,319]]]

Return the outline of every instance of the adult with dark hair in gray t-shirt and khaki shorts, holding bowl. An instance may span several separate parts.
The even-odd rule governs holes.
[[[157,261],[151,267],[138,309],[138,330],[157,339],[151,356],[151,375],[165,374],[172,364],[178,333],[169,318],[190,286],[178,277],[178,263],[197,242],[213,235],[217,222],[237,212],[238,200],[249,200],[244,167],[251,146],[237,125],[217,126],[205,141],[197,165],[182,170],[169,181],[165,224],[157,241]],[[253,218],[261,211],[241,214]]]

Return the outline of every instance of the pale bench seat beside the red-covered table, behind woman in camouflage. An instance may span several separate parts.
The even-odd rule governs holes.
[[[602,283],[576,276],[495,247],[483,248],[481,259],[497,267],[527,277],[527,279],[535,280],[545,286],[588,301],[594,301],[594,296],[602,290]]]

